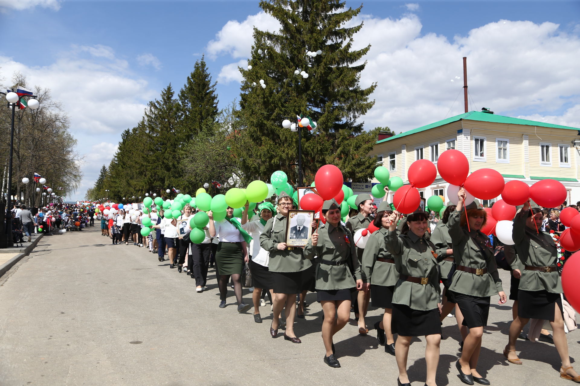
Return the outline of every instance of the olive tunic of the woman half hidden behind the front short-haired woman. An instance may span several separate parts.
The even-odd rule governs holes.
[[[381,227],[369,237],[362,252],[362,281],[372,285],[391,286],[397,284],[398,272],[393,263],[377,259],[394,259],[387,249],[385,236],[389,230]]]

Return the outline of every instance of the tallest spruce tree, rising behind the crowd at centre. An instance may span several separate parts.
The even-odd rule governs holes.
[[[281,122],[285,117],[295,122],[298,114],[317,122],[316,130],[302,131],[305,182],[326,163],[338,166],[345,178],[367,181],[375,163],[368,152],[377,130],[365,132],[364,122],[357,120],[374,105],[369,95],[376,84],[360,87],[366,63],[354,65],[370,49],[352,50],[362,23],[345,27],[362,6],[345,9],[340,0],[270,0],[260,1],[260,7],[280,21],[281,29],[255,28],[252,68],[240,68],[244,81],[237,116],[245,128],[234,151],[245,179],[284,170],[296,183],[298,136]],[[318,50],[322,54],[306,55]]]

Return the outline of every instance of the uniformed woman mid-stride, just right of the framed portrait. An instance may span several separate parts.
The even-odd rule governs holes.
[[[315,288],[318,302],[324,311],[322,322],[322,341],[326,350],[324,363],[331,367],[340,367],[334,356],[332,336],[349,321],[350,299],[355,288],[362,289],[361,270],[352,233],[340,223],[340,205],[335,200],[324,201],[322,215],[326,223],[308,240],[304,255],[308,259],[315,257],[320,259],[316,270]]]

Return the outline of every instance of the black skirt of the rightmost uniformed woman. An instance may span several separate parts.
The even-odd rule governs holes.
[[[553,321],[555,317],[554,304],[562,308],[562,298],[559,293],[542,291],[524,291],[520,289],[517,294],[517,316],[525,319],[544,319]]]

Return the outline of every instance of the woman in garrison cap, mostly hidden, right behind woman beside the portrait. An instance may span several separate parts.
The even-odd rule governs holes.
[[[372,221],[372,197],[370,194],[358,194],[357,199],[354,204],[358,208],[358,215],[350,217],[346,222],[346,227],[354,235],[359,229],[366,229]],[[355,247],[357,251],[358,262],[362,260],[362,252],[364,248]],[[358,333],[367,334],[368,328],[367,323],[364,321],[364,317],[367,315],[368,293],[360,291],[354,294],[353,297],[353,308],[354,308],[354,318],[358,319]]]

